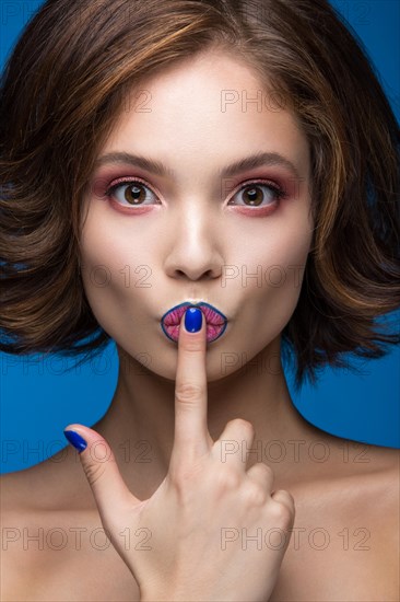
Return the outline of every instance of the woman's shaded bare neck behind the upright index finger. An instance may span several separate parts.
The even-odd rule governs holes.
[[[174,441],[175,381],[145,369],[118,347],[119,374],[111,405],[93,426],[111,445],[127,486],[139,498],[150,497],[168,471]],[[318,438],[318,429],[293,406],[280,359],[280,337],[240,370],[208,383],[208,424],[213,440],[228,420],[250,421],[256,436],[247,468],[266,462],[275,483],[284,486],[298,465],[278,461],[287,441]],[[227,441],[226,453],[245,453],[245,442]],[[292,455],[293,455],[293,450]],[[272,463],[270,460],[272,459]]]

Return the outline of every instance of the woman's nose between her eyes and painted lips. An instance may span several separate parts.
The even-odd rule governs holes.
[[[211,280],[221,277],[223,256],[217,219],[210,211],[196,210],[196,204],[179,211],[165,259],[166,274],[172,278]],[[201,205],[201,202],[199,204]]]

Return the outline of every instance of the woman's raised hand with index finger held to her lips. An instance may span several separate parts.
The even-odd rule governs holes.
[[[80,458],[103,526],[138,581],[141,600],[264,602],[289,545],[294,500],[285,490],[273,491],[273,473],[266,464],[246,471],[242,453],[223,454],[223,440],[251,449],[250,422],[231,420],[220,439],[212,440],[207,421],[205,320],[202,316],[198,333],[188,333],[184,324],[185,315],[178,340],[174,445],[168,473],[150,499],[141,501],[127,488],[109,445],[97,432],[82,425],[66,430],[79,432],[87,442]],[[106,462],[91,454],[91,445],[98,441],[107,449]],[[146,533],[145,545],[126,546],[127,528],[131,542]]]

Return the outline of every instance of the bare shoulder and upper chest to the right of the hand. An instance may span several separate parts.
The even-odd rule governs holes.
[[[311,478],[287,487],[294,531],[271,600],[398,601],[400,451],[323,441],[327,461],[311,465]]]

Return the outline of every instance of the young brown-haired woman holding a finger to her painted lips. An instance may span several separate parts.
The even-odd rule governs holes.
[[[325,0],[43,5],[1,86],[1,349],[120,364],[2,477],[4,601],[398,600],[399,453],[343,462],[283,370],[400,341],[398,144]]]

